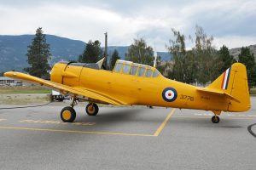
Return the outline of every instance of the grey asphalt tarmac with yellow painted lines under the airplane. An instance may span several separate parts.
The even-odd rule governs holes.
[[[0,109],[0,169],[256,169],[256,98],[245,113],[61,105]],[[6,105],[0,105],[1,108]]]

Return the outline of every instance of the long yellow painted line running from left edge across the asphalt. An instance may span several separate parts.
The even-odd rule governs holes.
[[[111,134],[111,135],[123,135],[123,136],[154,136],[153,134],[140,134],[140,133],[104,133],[93,131],[74,131],[74,130],[57,130],[48,128],[29,128],[29,127],[0,127],[4,129],[16,129],[16,130],[31,130],[31,131],[43,131],[43,132],[58,132],[58,133],[91,133],[91,134]]]

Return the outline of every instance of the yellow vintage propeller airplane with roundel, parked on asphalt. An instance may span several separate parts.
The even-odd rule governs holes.
[[[100,62],[101,63],[101,62]],[[59,62],[50,81],[9,71],[5,77],[36,82],[73,97],[71,106],[61,111],[63,122],[73,122],[78,100],[89,101],[85,111],[96,116],[96,103],[110,105],[151,105],[179,109],[212,111],[218,123],[221,111],[241,112],[251,107],[245,65],[236,63],[206,88],[198,88],[163,77],[157,69],[131,61],[117,60],[113,71],[101,70],[101,64]]]

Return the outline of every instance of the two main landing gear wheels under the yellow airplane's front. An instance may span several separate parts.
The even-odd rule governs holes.
[[[75,105],[78,105],[76,98],[73,98],[71,106],[64,107],[61,110],[61,120],[63,122],[73,122],[76,118],[76,111],[73,109]],[[89,116],[96,116],[99,107],[95,103],[89,103],[85,109]]]

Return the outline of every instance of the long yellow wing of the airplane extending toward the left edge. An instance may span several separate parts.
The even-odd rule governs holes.
[[[74,95],[82,95],[86,96],[90,99],[100,100],[104,103],[112,104],[112,105],[127,105],[125,102],[120,101],[119,99],[113,99],[110,96],[102,94],[100,92],[93,91],[91,89],[87,89],[84,87],[69,87],[57,82],[50,82],[38,77],[32,77],[30,75],[9,71],[4,73],[5,77],[12,77],[15,79],[20,79],[26,82],[35,82],[40,84],[41,86],[46,86],[49,88],[54,88],[57,91],[60,91],[62,94],[74,94]]]

